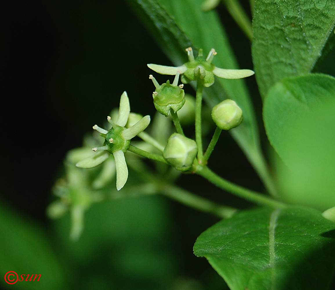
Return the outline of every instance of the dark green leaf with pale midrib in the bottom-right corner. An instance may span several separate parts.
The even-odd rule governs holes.
[[[194,245],[231,290],[328,289],[335,225],[309,209],[254,209],[204,231]]]

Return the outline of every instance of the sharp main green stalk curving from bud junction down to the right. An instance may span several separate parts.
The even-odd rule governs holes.
[[[195,168],[195,172],[201,175],[202,177],[206,178],[207,180],[209,180],[209,182],[216,185],[217,187],[223,190],[226,190],[228,192],[231,192],[251,202],[257,203],[262,206],[270,206],[274,208],[285,208],[286,207],[284,203],[276,201],[259,192],[246,189],[239,185],[233,184],[229,182],[228,180],[225,180],[224,178],[218,176],[216,173],[210,170],[207,166],[198,165]]]

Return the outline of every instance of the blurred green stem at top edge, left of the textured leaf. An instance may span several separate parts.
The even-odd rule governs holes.
[[[252,41],[252,25],[251,21],[244,11],[238,0],[223,0],[224,5],[226,6],[231,17],[236,21],[240,26],[242,31],[247,35],[250,41]]]

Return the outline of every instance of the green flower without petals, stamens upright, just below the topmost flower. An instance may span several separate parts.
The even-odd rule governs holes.
[[[156,87],[156,90],[152,94],[153,103],[156,110],[165,117],[169,116],[170,109],[176,113],[185,103],[185,93],[182,89],[184,85],[178,86],[179,75],[180,72],[177,72],[175,80],[172,84],[170,84],[170,81],[167,80],[166,83],[161,85],[158,84],[152,75],[149,76]]]

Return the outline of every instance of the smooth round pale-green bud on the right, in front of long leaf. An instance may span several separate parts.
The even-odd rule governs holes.
[[[242,110],[235,101],[227,99],[214,106],[212,119],[220,129],[230,130],[241,124]]]

